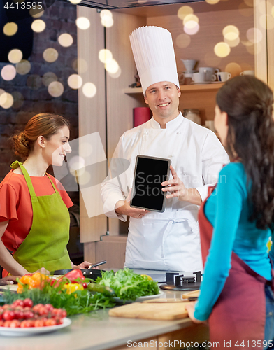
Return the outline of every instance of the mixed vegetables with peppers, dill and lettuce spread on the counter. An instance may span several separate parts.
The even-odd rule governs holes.
[[[85,279],[80,269],[75,269],[60,279],[39,273],[27,274],[18,280],[17,294],[8,290],[2,296],[6,304],[30,299],[36,306],[51,304],[55,309],[66,310],[71,316],[114,307],[113,297],[134,301],[138,297],[156,294],[159,294],[157,282],[150,276],[134,274],[130,269],[121,269],[116,274],[102,272],[96,283]]]

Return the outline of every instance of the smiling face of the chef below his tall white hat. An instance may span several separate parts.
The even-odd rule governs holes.
[[[150,106],[154,119],[160,124],[161,122],[166,124],[179,114],[180,95],[180,89],[175,84],[168,81],[161,81],[147,87],[145,103]]]

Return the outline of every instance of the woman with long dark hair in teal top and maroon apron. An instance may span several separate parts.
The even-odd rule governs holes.
[[[262,349],[274,337],[271,248],[274,221],[273,92],[253,76],[217,93],[215,128],[231,163],[199,211],[205,271],[195,323],[208,320],[219,347]]]

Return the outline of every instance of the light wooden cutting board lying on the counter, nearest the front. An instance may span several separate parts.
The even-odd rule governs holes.
[[[144,318],[147,320],[178,320],[187,317],[185,305],[189,302],[141,303],[115,307],[108,311],[109,316],[125,318]]]

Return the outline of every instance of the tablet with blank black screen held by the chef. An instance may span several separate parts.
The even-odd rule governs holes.
[[[150,211],[165,209],[166,196],[161,183],[169,179],[171,160],[137,155],[130,206]]]

